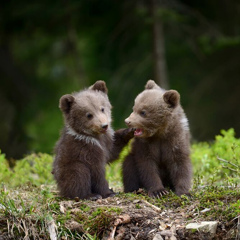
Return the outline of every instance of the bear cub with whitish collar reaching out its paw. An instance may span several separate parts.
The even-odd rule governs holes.
[[[114,195],[105,166],[118,157],[133,132],[112,130],[107,91],[105,82],[97,81],[60,98],[65,127],[55,147],[52,172],[63,197],[96,200]]]

